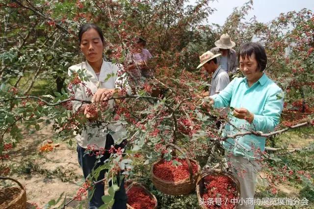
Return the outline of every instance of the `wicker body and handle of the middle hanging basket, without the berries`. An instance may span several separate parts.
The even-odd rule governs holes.
[[[166,145],[166,149],[169,146],[175,148],[181,154],[183,154],[183,151],[178,146],[170,143],[170,144]],[[194,190],[195,183],[196,183],[197,177],[198,177],[198,175],[200,173],[201,167],[200,167],[200,165],[198,164],[197,161],[192,160],[193,162],[195,162],[197,164],[197,167],[198,167],[197,168],[197,172],[195,174],[193,174],[192,165],[191,165],[190,160],[188,159],[188,157],[186,157],[185,159],[186,159],[187,164],[188,164],[190,175],[189,175],[188,178],[180,180],[180,181],[177,181],[177,182],[167,182],[167,181],[164,181],[164,180],[158,178],[157,176],[155,176],[155,174],[154,174],[154,165],[156,163],[158,163],[160,160],[162,160],[162,158],[152,165],[152,170],[151,170],[152,181],[153,181],[155,187],[159,191],[161,191],[161,192],[163,192],[165,194],[170,194],[170,195],[184,195],[184,194],[189,194],[191,191]]]

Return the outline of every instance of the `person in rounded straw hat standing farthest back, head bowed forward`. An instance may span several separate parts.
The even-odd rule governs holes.
[[[221,56],[217,58],[219,65],[225,71],[236,72],[237,68],[237,57],[236,52],[233,47],[235,47],[235,42],[230,40],[228,33],[222,34],[220,39],[215,42],[214,48],[210,52],[216,54],[221,53]]]

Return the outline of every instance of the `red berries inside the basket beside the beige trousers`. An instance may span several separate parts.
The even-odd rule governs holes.
[[[202,201],[208,209],[233,209],[237,191],[235,183],[227,176],[206,176],[204,178],[205,192]],[[227,199],[227,201],[226,201]],[[235,200],[232,202],[232,200]]]

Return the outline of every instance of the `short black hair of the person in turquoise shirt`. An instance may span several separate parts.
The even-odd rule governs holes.
[[[255,59],[257,61],[257,68],[259,71],[263,71],[267,65],[267,55],[264,47],[260,43],[248,42],[242,45],[239,58],[245,59],[245,57],[249,57],[252,54],[255,54]]]

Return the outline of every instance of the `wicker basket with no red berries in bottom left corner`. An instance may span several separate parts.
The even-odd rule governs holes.
[[[17,180],[0,177],[2,180],[11,180],[20,187],[9,187],[0,190],[0,209],[26,209],[26,190]]]

